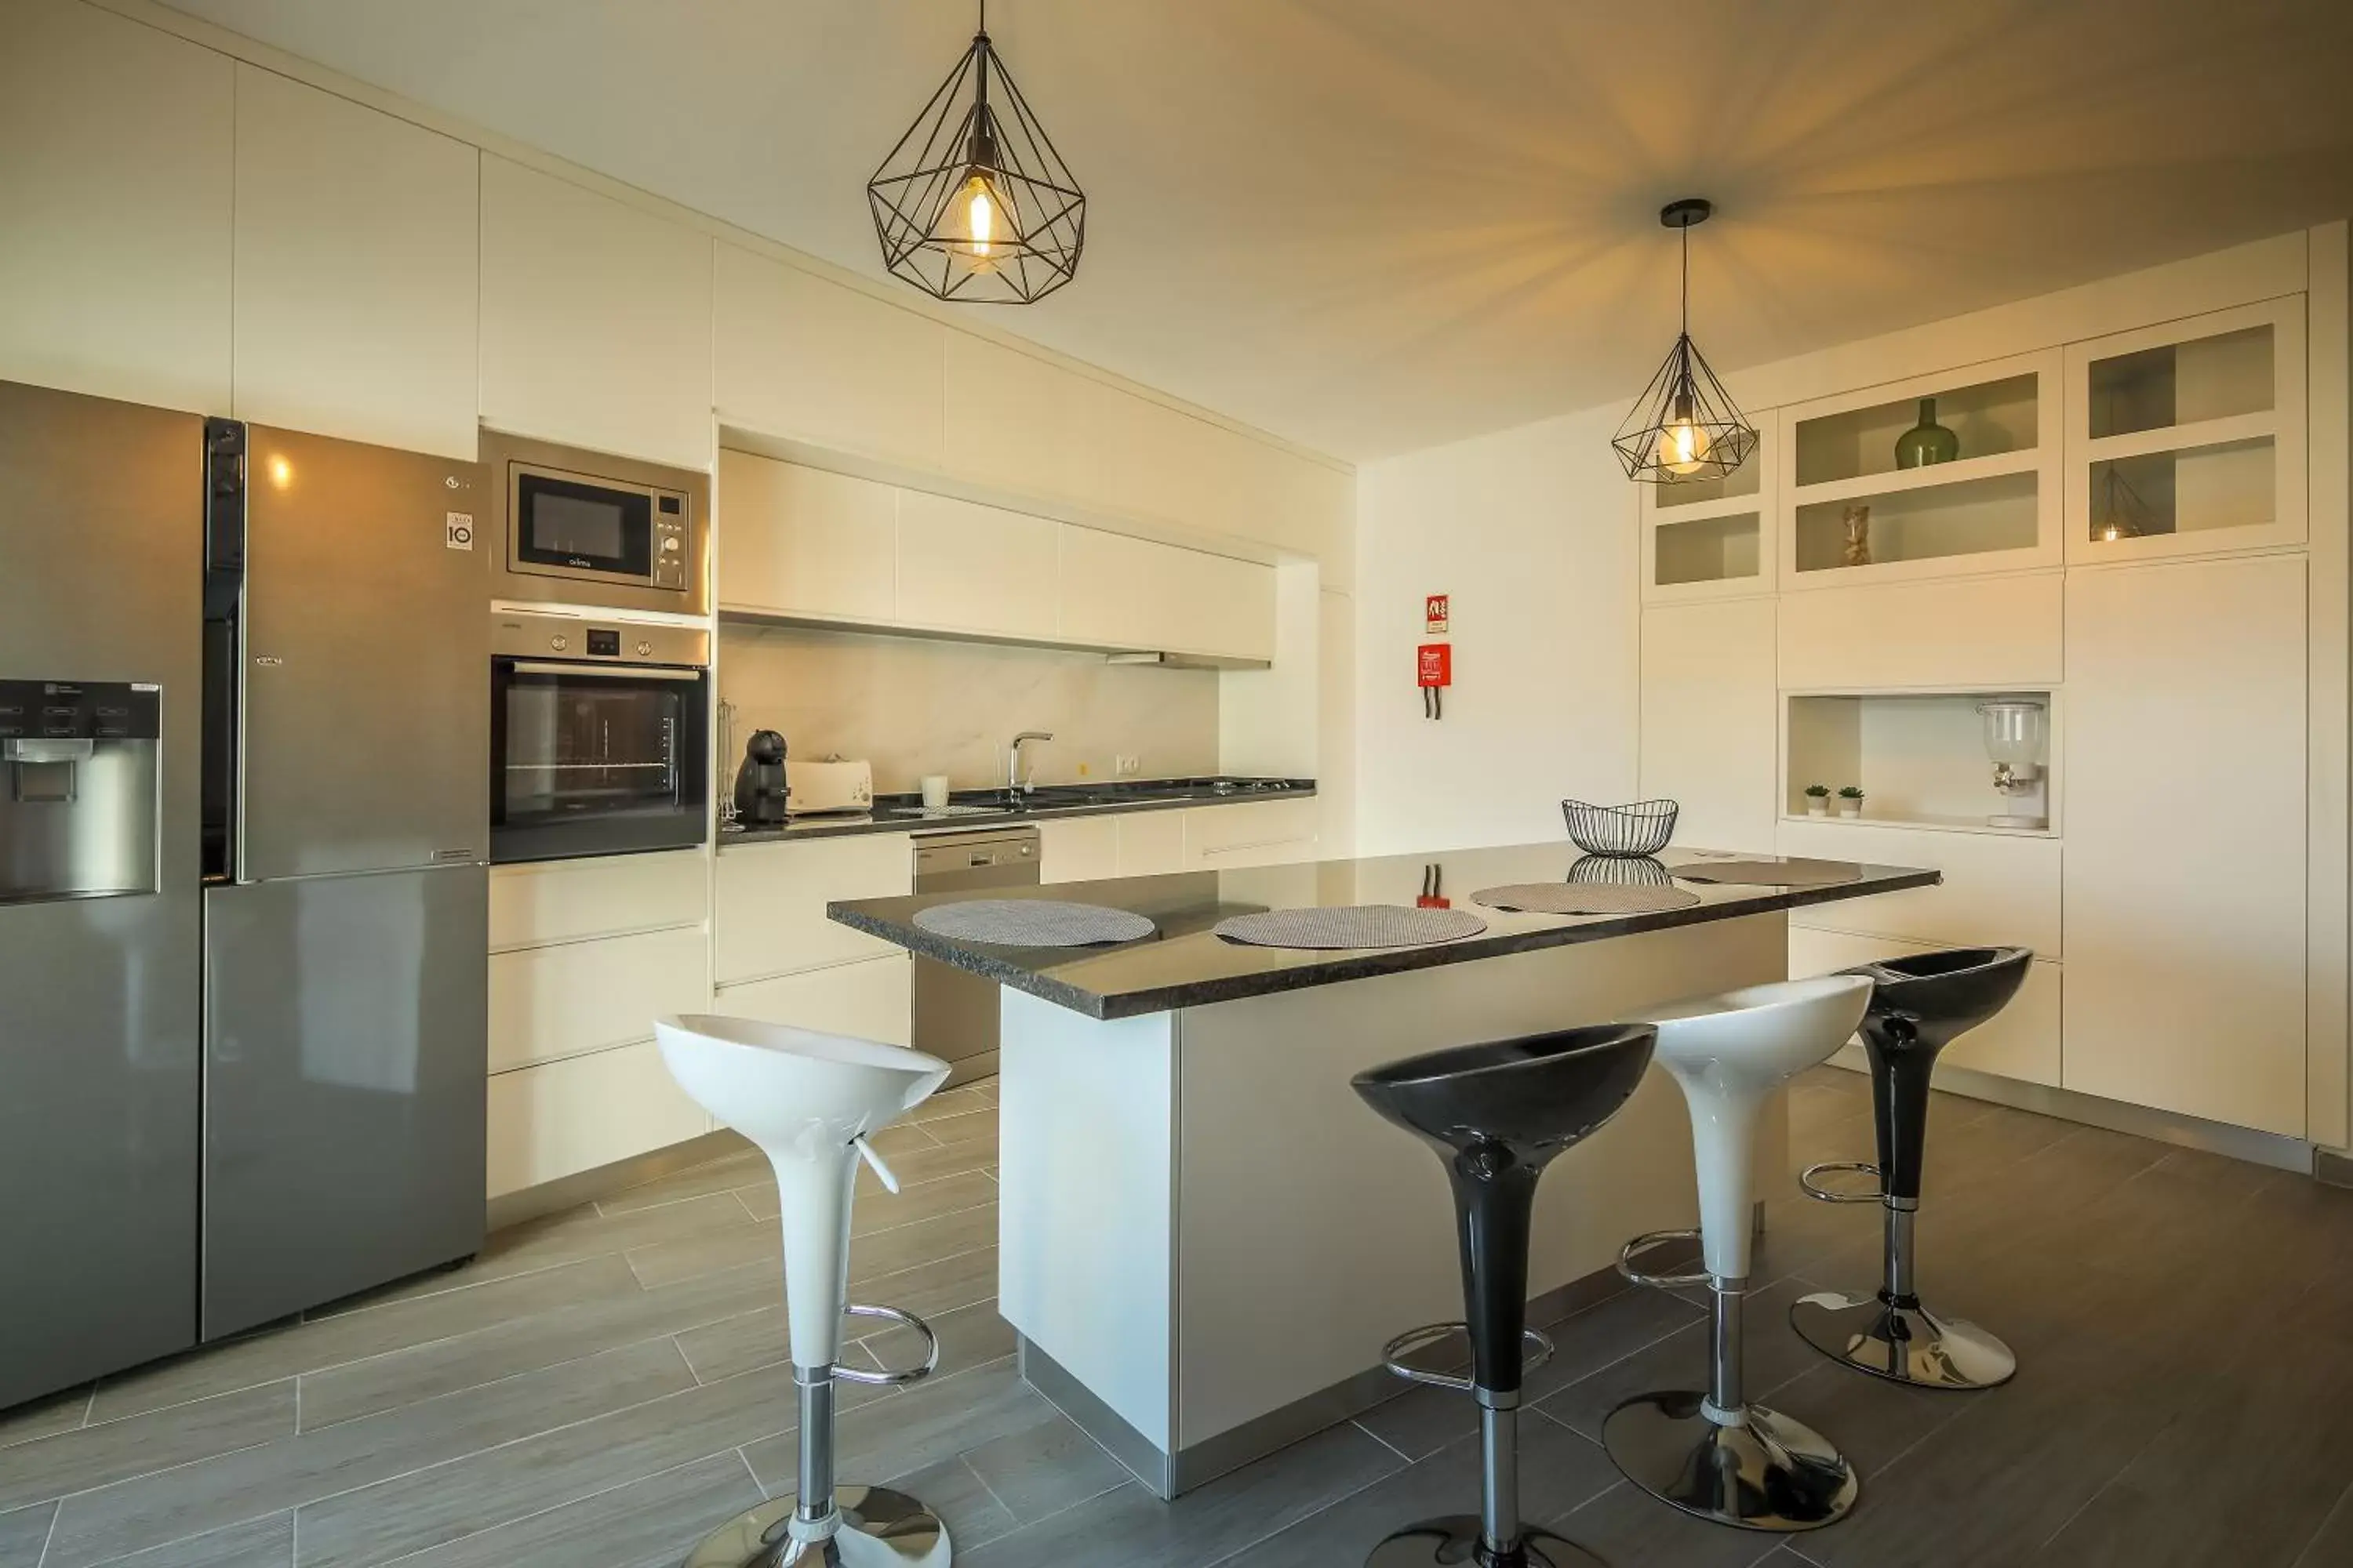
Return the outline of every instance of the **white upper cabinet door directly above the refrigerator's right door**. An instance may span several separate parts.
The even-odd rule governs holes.
[[[480,162],[238,66],[238,418],[475,458]]]

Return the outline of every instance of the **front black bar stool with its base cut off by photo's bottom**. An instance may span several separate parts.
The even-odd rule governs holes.
[[[1421,1135],[1447,1164],[1471,1319],[1398,1335],[1384,1352],[1388,1371],[1466,1389],[1480,1406],[1482,1458],[1475,1519],[1407,1526],[1374,1547],[1369,1568],[1600,1568],[1560,1535],[1520,1526],[1520,1378],[1553,1354],[1551,1340],[1527,1328],[1527,1239],[1544,1168],[1633,1095],[1657,1039],[1647,1023],[1605,1023],[1431,1051],[1355,1077],[1372,1110]],[[1400,1361],[1457,1328],[1471,1338],[1468,1378]]]

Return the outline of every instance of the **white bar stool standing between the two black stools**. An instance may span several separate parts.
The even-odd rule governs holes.
[[[1708,1392],[1628,1399],[1602,1422],[1602,1446],[1649,1495],[1744,1530],[1817,1530],[1854,1507],[1854,1467],[1821,1434],[1748,1403],[1741,1389],[1741,1300],[1755,1211],[1755,1128],[1765,1100],[1831,1060],[1864,1020],[1866,976],[1821,976],[1694,997],[1652,1018],[1661,1063],[1692,1110],[1699,1244],[1706,1272],[1645,1274],[1635,1258],[1694,1232],[1649,1232],[1619,1253],[1642,1286],[1708,1286]]]

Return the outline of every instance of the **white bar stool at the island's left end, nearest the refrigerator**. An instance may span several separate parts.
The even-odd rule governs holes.
[[[746,1018],[689,1013],[654,1025],[661,1060],[706,1112],[751,1138],[776,1168],[784,1211],[784,1293],[800,1392],[800,1488],[704,1537],[687,1568],[948,1568],[948,1526],[906,1493],[833,1483],[833,1385],[915,1382],[939,1366],[929,1324],[894,1307],[852,1307],[849,1201],[864,1157],[899,1190],[866,1143],[948,1077],[922,1051],[816,1034]],[[835,1366],[842,1312],[906,1324],[932,1349],[911,1371]]]

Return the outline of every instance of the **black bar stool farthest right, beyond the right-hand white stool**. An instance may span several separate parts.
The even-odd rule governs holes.
[[[1842,973],[1871,978],[1864,1051],[1871,1056],[1871,1110],[1880,1164],[1824,1164],[1798,1182],[1826,1204],[1878,1201],[1887,1225],[1885,1276],[1875,1293],[1819,1291],[1788,1312],[1807,1345],[1873,1378],[1929,1389],[1991,1389],[2019,1371],[2019,1359],[1977,1324],[1937,1316],[1913,1288],[1913,1215],[1920,1211],[1920,1164],[1927,1150],[1927,1081],[1937,1053],[1986,1023],[2019,994],[2028,947],[1955,947]],[[1833,1171],[1880,1178],[1878,1192],[1838,1192]]]

